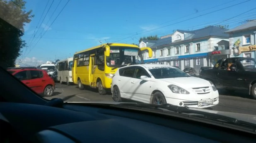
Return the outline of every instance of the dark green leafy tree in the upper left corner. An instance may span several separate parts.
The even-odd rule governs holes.
[[[25,11],[24,0],[0,0],[0,66],[14,67],[21,49],[26,46],[21,39],[25,23],[34,17],[32,10]]]

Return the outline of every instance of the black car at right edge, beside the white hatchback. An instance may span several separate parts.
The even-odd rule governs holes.
[[[228,91],[246,90],[256,99],[256,59],[227,58],[217,61],[213,68],[202,70],[200,77]]]

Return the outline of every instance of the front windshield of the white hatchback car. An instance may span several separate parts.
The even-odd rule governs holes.
[[[149,71],[156,79],[190,77],[190,75],[184,73],[183,71],[177,68],[157,68],[157,69],[150,69]]]

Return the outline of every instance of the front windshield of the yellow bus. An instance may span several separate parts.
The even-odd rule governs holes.
[[[106,58],[107,66],[116,67],[128,63],[135,64],[139,49],[129,47],[110,47],[110,56]]]

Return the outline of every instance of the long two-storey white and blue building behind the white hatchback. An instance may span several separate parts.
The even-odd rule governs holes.
[[[144,53],[145,63],[160,63],[184,68],[195,68],[197,73],[202,66],[213,66],[217,54],[213,51],[229,50],[226,29],[209,26],[198,30],[176,30],[173,34],[162,36],[159,40],[142,41],[140,47],[151,47],[152,58]],[[154,41],[154,42],[153,42]],[[229,56],[230,52],[221,52]],[[224,55],[227,54],[227,55]],[[220,56],[220,55],[219,55]],[[220,57],[218,57],[220,58]]]

